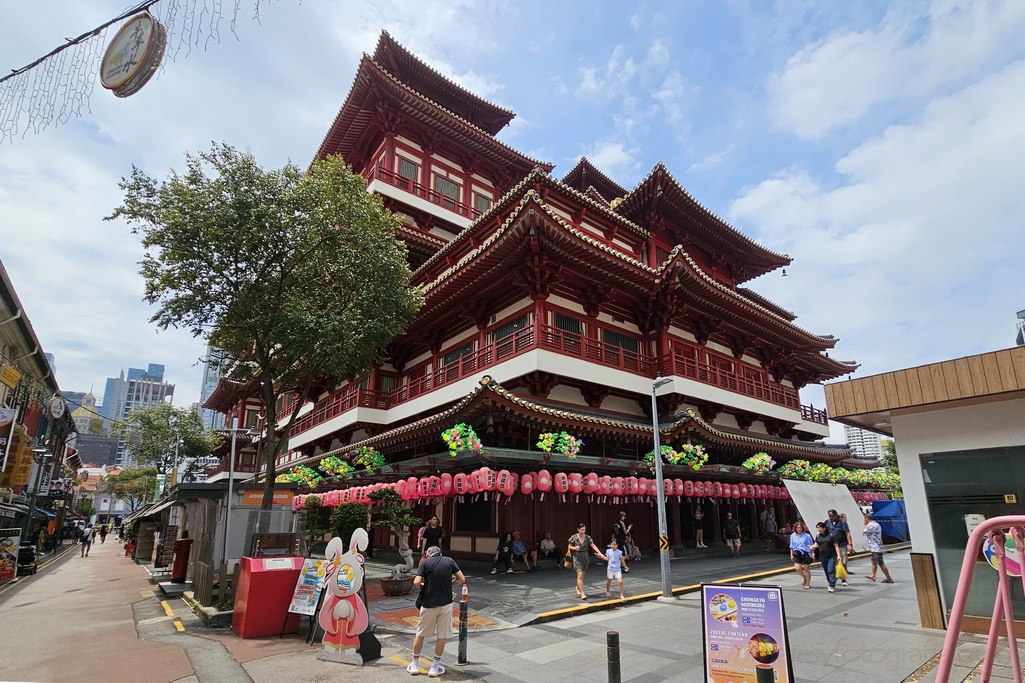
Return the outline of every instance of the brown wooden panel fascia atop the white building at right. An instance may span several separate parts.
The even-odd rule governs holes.
[[[832,417],[1025,390],[1025,347],[825,386]]]

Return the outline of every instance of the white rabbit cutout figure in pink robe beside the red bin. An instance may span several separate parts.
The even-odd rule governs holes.
[[[369,618],[367,606],[360,597],[363,587],[363,556],[368,536],[365,529],[356,529],[345,553],[341,538],[334,537],[327,545],[328,576],[327,595],[318,616],[324,629],[324,649],[318,659],[363,666],[359,652],[360,634],[366,631]]]

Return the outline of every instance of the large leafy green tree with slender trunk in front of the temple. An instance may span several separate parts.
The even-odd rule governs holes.
[[[133,168],[121,189],[109,217],[141,237],[153,322],[205,335],[232,361],[233,379],[256,383],[270,510],[287,444],[278,399],[297,398],[294,420],[315,391],[377,362],[422,303],[395,235],[400,218],[340,158],[263,170],[223,144],[187,155],[186,171],[163,183]]]

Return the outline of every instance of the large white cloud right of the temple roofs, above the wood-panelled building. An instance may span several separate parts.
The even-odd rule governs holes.
[[[795,262],[755,286],[877,372],[1013,342],[1025,233],[1025,61],[839,159],[830,187],[785,169],[732,205]],[[837,315],[839,314],[839,315]],[[888,343],[888,339],[894,343]]]

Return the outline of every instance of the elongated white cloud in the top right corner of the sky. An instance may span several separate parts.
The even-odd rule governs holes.
[[[769,84],[776,119],[803,138],[888,103],[957,88],[1023,54],[1025,3],[936,0],[926,16],[893,9],[865,31],[808,45]]]

